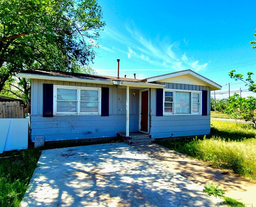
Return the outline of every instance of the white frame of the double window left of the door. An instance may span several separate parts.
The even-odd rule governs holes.
[[[57,112],[57,89],[76,89],[77,90],[77,112]],[[83,86],[53,86],[53,114],[54,115],[100,115],[101,114],[101,88],[83,87]],[[80,112],[80,91],[81,90],[97,90],[98,91],[98,112]]]

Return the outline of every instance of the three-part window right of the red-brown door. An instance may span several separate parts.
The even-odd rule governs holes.
[[[164,114],[201,114],[201,92],[164,91]]]

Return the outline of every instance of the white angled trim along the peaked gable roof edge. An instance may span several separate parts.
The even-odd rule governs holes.
[[[192,75],[193,77],[197,78],[198,81],[206,83],[206,85],[209,86],[211,88],[211,90],[220,90],[221,89],[221,85],[211,81],[210,79],[208,79],[202,75],[199,75],[198,73],[195,73],[192,70],[183,70],[183,71],[178,71],[178,72],[174,72],[174,73],[168,73],[165,75],[158,75],[158,76],[146,78],[142,81],[147,81],[147,82],[156,81],[157,82],[157,81],[160,81],[163,79],[173,78],[173,77],[177,77],[180,75],[187,75],[187,74]]]

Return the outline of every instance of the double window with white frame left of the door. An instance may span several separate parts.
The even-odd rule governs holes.
[[[100,88],[54,85],[54,114],[100,114]]]

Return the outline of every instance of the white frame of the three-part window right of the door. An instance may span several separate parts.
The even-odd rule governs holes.
[[[165,92],[173,92],[173,113],[167,113],[165,112]],[[190,93],[190,113],[188,114],[176,114],[176,92],[189,92]],[[193,93],[198,93],[199,94],[199,109],[198,112],[192,112],[192,106],[193,106]],[[169,89],[169,88],[164,88],[163,89],[163,115],[202,115],[202,91],[195,91],[195,90],[174,90],[174,89]]]

